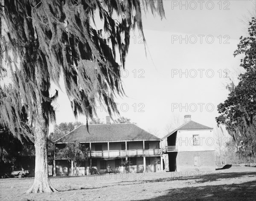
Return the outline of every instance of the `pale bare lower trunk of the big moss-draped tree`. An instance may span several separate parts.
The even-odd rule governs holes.
[[[44,123],[36,123],[35,129],[35,180],[26,193],[56,192],[50,183],[47,164],[47,135]]]

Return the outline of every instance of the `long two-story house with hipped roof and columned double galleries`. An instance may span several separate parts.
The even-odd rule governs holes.
[[[79,141],[88,147],[88,160],[79,167],[79,175],[89,174],[89,167],[104,172],[110,164],[111,169],[123,172],[121,161],[129,160],[129,172],[159,172],[163,170],[160,138],[146,132],[133,123],[81,125],[72,132],[55,141],[54,175],[70,175],[73,168],[65,159],[61,149],[65,144]]]

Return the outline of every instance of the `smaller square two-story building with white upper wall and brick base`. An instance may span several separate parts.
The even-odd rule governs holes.
[[[185,115],[185,123],[164,136],[161,144],[171,172],[215,170],[213,129],[191,121],[191,115]]]

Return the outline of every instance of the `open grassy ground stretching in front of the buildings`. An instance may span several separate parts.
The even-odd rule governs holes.
[[[256,168],[51,178],[55,193],[25,194],[33,178],[0,179],[0,201],[256,201]]]

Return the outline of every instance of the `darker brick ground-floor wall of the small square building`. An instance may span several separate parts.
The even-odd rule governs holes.
[[[200,166],[195,166],[194,157],[200,156]],[[214,151],[193,151],[193,152],[178,152],[177,172],[180,171],[214,171],[215,156]]]

